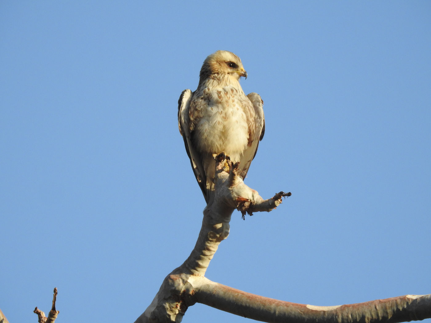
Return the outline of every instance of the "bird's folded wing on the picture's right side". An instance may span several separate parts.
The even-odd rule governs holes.
[[[244,150],[240,162],[240,169],[242,171],[241,175],[243,178],[247,175],[251,161],[253,160],[254,156],[256,156],[259,141],[262,140],[263,135],[265,134],[265,116],[263,115],[262,98],[257,93],[250,93],[247,95],[247,98],[253,105],[255,116],[254,120],[252,119],[249,121],[249,144]]]

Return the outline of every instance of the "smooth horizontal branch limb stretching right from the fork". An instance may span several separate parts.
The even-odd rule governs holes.
[[[404,295],[358,304],[314,306],[253,295],[209,280],[194,291],[194,296],[202,304],[263,322],[395,323],[431,317],[431,295]]]

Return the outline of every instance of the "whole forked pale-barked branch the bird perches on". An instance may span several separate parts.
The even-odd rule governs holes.
[[[215,195],[203,211],[202,227],[184,263],[162,283],[147,310],[135,323],[181,322],[196,302],[263,322],[371,323],[404,322],[431,318],[431,295],[405,295],[359,304],[321,307],[278,301],[253,295],[208,280],[204,275],[219,243],[229,234],[229,221],[237,209],[244,214],[271,211],[290,193],[263,199],[244,184],[237,165],[224,154],[215,157]]]

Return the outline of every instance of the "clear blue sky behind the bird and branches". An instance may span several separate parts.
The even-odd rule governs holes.
[[[246,183],[292,196],[235,212],[206,276],[314,305],[431,293],[431,2],[1,1],[0,46],[11,323],[54,287],[59,323],[133,322],[187,258],[205,204],[177,100],[221,49],[265,102]]]

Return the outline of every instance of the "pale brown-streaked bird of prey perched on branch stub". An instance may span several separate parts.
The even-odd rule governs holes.
[[[218,50],[203,62],[197,90],[184,90],[178,100],[178,127],[207,203],[214,192],[213,155],[225,152],[240,162],[244,179],[265,132],[263,101],[244,94],[241,76],[247,78],[241,59]]]

